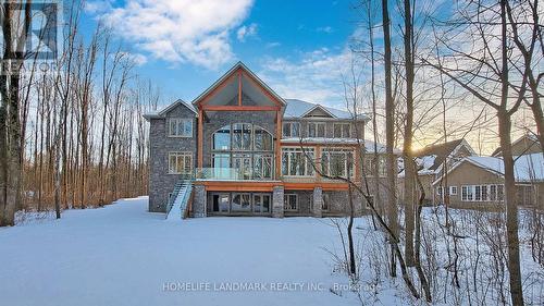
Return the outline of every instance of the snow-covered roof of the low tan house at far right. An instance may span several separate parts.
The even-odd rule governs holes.
[[[471,163],[493,174],[504,176],[505,168],[503,158],[469,156],[458,161],[447,174],[455,171],[462,163]],[[544,181],[544,157],[542,154],[522,155],[514,158],[514,174],[516,182],[542,182]],[[433,182],[438,183],[442,178]]]

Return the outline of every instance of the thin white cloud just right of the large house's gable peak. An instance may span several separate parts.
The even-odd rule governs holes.
[[[344,108],[343,79],[349,74],[351,59],[349,49],[333,52],[321,48],[298,60],[267,58],[259,75],[282,97]]]

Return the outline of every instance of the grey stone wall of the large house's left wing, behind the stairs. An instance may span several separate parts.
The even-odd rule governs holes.
[[[193,120],[193,137],[169,137],[168,122],[171,118]],[[193,163],[196,166],[197,150],[197,121],[196,114],[183,103],[170,110],[165,118],[150,120],[149,128],[149,211],[164,212],[169,194],[172,193],[178,174],[169,174],[169,152],[191,151]]]

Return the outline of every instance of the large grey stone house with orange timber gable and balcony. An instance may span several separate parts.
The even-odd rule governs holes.
[[[284,99],[242,62],[190,103],[145,118],[150,211],[339,216],[349,211],[348,184],[324,176],[363,176],[367,115]]]

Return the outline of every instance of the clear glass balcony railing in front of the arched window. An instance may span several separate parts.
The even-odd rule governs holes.
[[[238,168],[198,168],[195,173],[196,180],[218,181],[271,181],[272,174],[255,173],[251,170]]]

